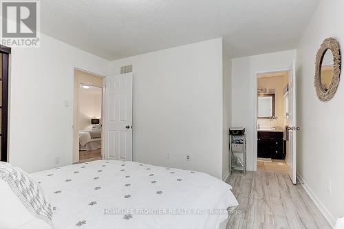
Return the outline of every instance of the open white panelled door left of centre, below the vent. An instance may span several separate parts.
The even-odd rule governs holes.
[[[133,74],[105,78],[105,158],[132,160]]]

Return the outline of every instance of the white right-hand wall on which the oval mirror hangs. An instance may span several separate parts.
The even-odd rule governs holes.
[[[344,82],[342,78],[334,98],[328,102],[318,100],[313,82],[316,52],[324,39],[336,38],[343,55],[343,9],[344,1],[322,0],[297,52],[298,124],[301,127],[298,133],[297,173],[323,204],[323,211],[332,224],[336,217],[344,217]],[[326,191],[327,180],[332,184],[332,193]]]

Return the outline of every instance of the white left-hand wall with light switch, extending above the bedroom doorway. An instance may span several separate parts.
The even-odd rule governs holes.
[[[72,164],[74,67],[107,75],[109,62],[41,34],[41,47],[12,49],[9,160],[34,172]],[[55,164],[55,157],[61,163]]]

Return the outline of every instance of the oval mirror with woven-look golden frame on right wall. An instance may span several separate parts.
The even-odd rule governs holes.
[[[336,94],[341,76],[341,49],[334,38],[323,41],[316,54],[314,86],[321,101],[328,101]]]

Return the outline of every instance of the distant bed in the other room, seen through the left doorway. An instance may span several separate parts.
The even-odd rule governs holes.
[[[102,148],[102,131],[79,131],[79,150],[92,151]]]

